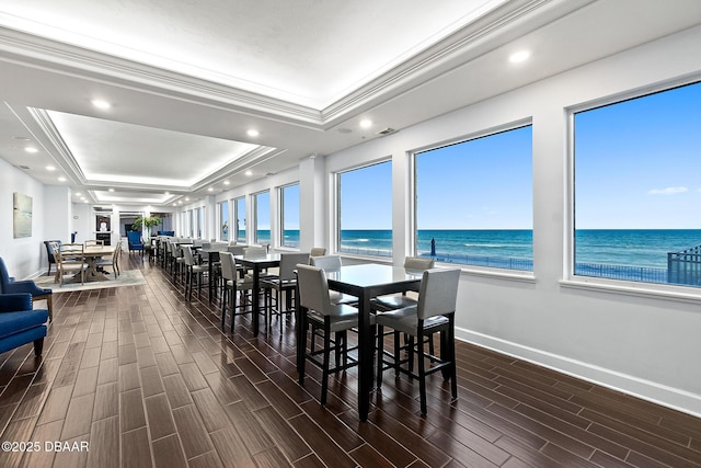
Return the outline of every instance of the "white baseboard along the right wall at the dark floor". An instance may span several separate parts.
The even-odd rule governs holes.
[[[548,353],[499,338],[456,328],[456,338],[593,384],[701,418],[701,395]]]

